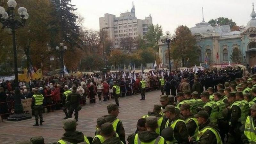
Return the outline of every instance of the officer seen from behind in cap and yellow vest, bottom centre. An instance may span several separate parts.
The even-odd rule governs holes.
[[[128,136],[129,144],[165,144],[164,138],[156,133],[158,127],[156,116],[148,116],[145,124],[147,131],[139,131]]]

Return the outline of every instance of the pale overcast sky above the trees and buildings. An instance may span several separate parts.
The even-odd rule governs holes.
[[[138,19],[151,14],[153,24],[162,25],[164,32],[169,30],[172,34],[178,25],[190,28],[202,22],[202,7],[206,22],[228,17],[238,26],[246,26],[251,19],[252,2],[256,3],[256,0],[72,0],[72,4],[84,17],[85,28],[99,30],[99,17],[104,17],[104,13],[118,17],[120,12],[130,12],[132,1]]]

